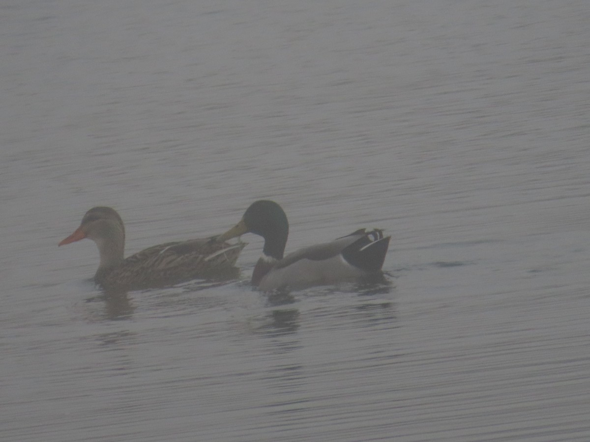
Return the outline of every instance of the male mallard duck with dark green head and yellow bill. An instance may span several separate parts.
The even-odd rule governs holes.
[[[217,240],[225,241],[248,232],[264,238],[263,255],[252,275],[252,284],[263,291],[381,275],[391,238],[384,237],[379,229],[371,232],[359,229],[332,242],[308,246],[283,257],[289,222],[281,206],[268,200],[252,203],[240,222]]]

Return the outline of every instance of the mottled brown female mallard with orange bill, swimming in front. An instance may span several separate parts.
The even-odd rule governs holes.
[[[93,240],[99,248],[100,265],[94,281],[106,289],[162,287],[194,278],[235,275],[235,261],[245,246],[192,239],[152,246],[124,259],[123,220],[110,207],[90,209],[80,227],[59,245],[84,238]]]

